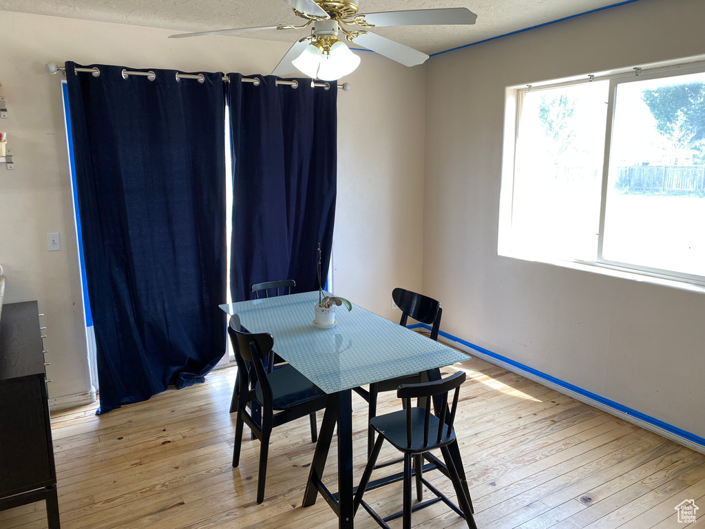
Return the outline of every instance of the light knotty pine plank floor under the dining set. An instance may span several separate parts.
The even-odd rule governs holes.
[[[479,528],[705,527],[705,456],[483,360],[443,372],[456,369],[468,375],[456,430]],[[322,499],[300,506],[314,450],[307,418],[274,430],[266,498],[255,503],[259,442],[247,427],[241,465],[231,466],[234,379],[234,368],[223,369],[205,384],[103,416],[94,415],[97,406],[54,413],[62,529],[337,527]],[[379,413],[399,406],[393,394],[381,394]],[[357,480],[366,462],[367,404],[354,395],[353,408]],[[380,461],[394,455],[386,446]],[[333,443],[324,481],[335,466]],[[427,477],[453,497],[446,478]],[[381,513],[400,510],[401,483],[365,499]],[[699,523],[678,523],[675,506],[685,499],[701,507]],[[378,527],[362,509],[355,521]],[[443,504],[415,513],[413,524],[467,527]],[[43,503],[0,512],[2,529],[46,527]]]

